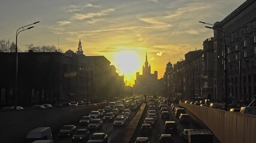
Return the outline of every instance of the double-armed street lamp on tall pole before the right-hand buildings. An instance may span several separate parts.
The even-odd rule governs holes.
[[[208,24],[213,27],[205,26],[206,28],[213,29],[213,30],[219,30],[224,38],[224,91],[225,91],[225,110],[228,110],[228,72],[227,72],[227,46],[226,46],[226,40],[225,40],[225,29],[221,26],[205,23],[203,21],[199,21],[199,23]]]

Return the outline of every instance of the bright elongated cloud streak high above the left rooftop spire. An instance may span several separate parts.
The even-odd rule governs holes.
[[[109,9],[106,9],[106,10],[102,10],[98,13],[87,13],[87,14],[74,14],[73,15],[73,19],[74,20],[84,20],[84,19],[88,19],[88,18],[94,18],[94,17],[101,17],[101,16],[104,16],[104,15],[107,15],[109,14],[110,12],[113,12],[115,11],[115,8],[109,8]]]

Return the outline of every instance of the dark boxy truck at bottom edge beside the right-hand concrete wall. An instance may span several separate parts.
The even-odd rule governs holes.
[[[189,143],[213,143],[213,135],[207,129],[188,130]]]

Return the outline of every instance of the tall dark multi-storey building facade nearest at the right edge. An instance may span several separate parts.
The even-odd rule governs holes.
[[[223,101],[225,96],[224,54],[227,56],[227,96],[231,98],[232,104],[248,104],[255,99],[255,9],[256,1],[247,0],[214,24],[214,91],[218,100]]]

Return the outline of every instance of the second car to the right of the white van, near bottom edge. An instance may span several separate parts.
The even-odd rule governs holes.
[[[72,142],[85,142],[89,140],[90,132],[87,129],[78,129],[72,136]]]

